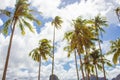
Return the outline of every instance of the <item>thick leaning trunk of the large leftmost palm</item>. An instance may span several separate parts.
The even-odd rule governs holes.
[[[8,68],[8,62],[9,62],[10,51],[11,51],[13,34],[14,34],[14,31],[15,31],[16,22],[17,22],[17,20],[15,20],[15,22],[14,22],[12,34],[11,34],[11,36],[10,36],[10,42],[9,42],[9,46],[8,46],[8,51],[7,51],[7,56],[6,56],[6,61],[5,61],[5,66],[4,66],[4,71],[3,71],[2,80],[6,80],[6,73],[7,73],[7,68]]]

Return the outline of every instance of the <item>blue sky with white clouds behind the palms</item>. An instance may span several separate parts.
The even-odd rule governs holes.
[[[16,0],[0,0],[0,9],[14,8]],[[60,80],[76,80],[74,56],[67,58],[67,52],[63,51],[66,42],[63,41],[64,32],[72,30],[71,21],[78,16],[90,19],[97,14],[107,17],[109,24],[105,28],[106,33],[103,35],[102,50],[109,50],[109,41],[120,37],[120,24],[115,15],[114,9],[120,5],[119,0],[29,0],[31,6],[42,12],[39,19],[42,25],[37,28],[33,34],[26,29],[26,35],[22,36],[19,28],[16,28],[10,61],[7,71],[7,80],[36,80],[38,74],[38,63],[34,62],[28,56],[29,52],[38,46],[38,41],[42,38],[52,40],[53,26],[51,20],[55,16],[60,16],[64,23],[60,30],[56,30],[56,53],[55,53],[55,74]],[[0,27],[5,19],[0,16]],[[33,24],[33,23],[31,23]],[[33,25],[36,27],[36,25]],[[0,79],[2,78],[9,36],[5,37],[0,34]],[[112,55],[107,58],[111,60]],[[107,78],[111,79],[120,74],[120,66],[107,68]],[[51,59],[47,62],[42,61],[41,80],[48,80],[51,74]],[[99,73],[99,76],[103,76]],[[80,76],[81,77],[81,76]]]

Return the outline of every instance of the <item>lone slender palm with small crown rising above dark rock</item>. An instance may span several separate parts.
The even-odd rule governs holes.
[[[53,28],[53,58],[52,58],[52,75],[54,73],[54,53],[55,53],[55,28],[59,29],[61,28],[61,24],[63,23],[61,17],[56,16],[55,19],[52,21],[52,25],[54,25]]]

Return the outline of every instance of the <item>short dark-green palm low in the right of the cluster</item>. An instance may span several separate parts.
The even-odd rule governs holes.
[[[99,49],[93,48],[92,52],[90,53],[90,62],[94,65],[92,69],[95,69],[96,72],[96,80],[98,80],[98,70],[102,71],[102,64],[106,64],[106,66],[111,67],[112,64],[110,63],[109,60],[107,60],[104,56],[102,55],[101,59],[101,54]],[[93,71],[94,72],[94,71]]]

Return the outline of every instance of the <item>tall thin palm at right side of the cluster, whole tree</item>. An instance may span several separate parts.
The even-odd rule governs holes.
[[[101,59],[102,59],[102,49],[101,49],[101,40],[100,40],[100,35],[102,36],[102,32],[105,32],[104,29],[102,28],[102,26],[108,26],[107,25],[107,21],[105,17],[101,17],[100,14],[97,15],[94,19],[92,19],[93,21],[93,29],[94,29],[94,33],[96,38],[98,39],[98,45],[99,45],[99,50],[101,53]],[[103,73],[104,73],[104,80],[106,80],[106,74],[105,74],[105,68],[104,68],[104,63],[102,64],[103,67]]]

